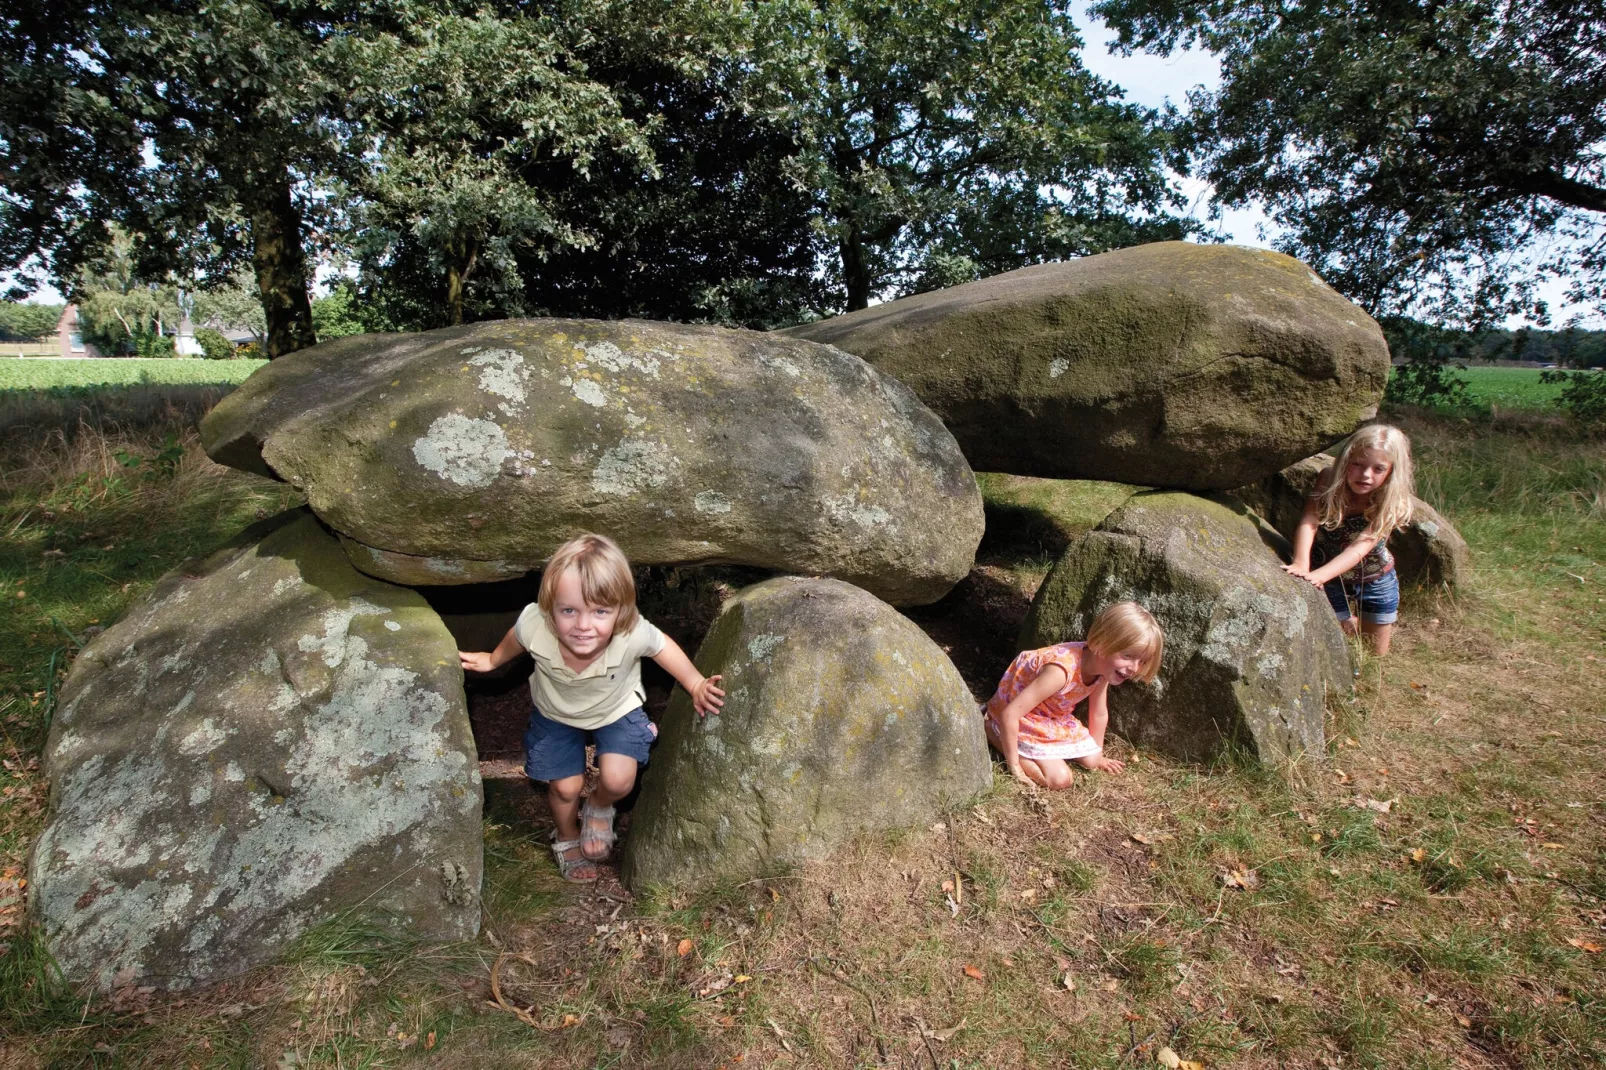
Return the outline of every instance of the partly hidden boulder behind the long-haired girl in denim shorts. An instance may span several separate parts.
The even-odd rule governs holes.
[[[1283,538],[1293,540],[1304,503],[1315,490],[1317,477],[1331,463],[1328,453],[1307,456],[1259,482],[1238,487],[1232,496],[1266,517]],[[1389,553],[1394,554],[1394,570],[1405,586],[1453,588],[1471,569],[1466,540],[1421,498],[1412,498],[1410,524],[1389,533]]]

